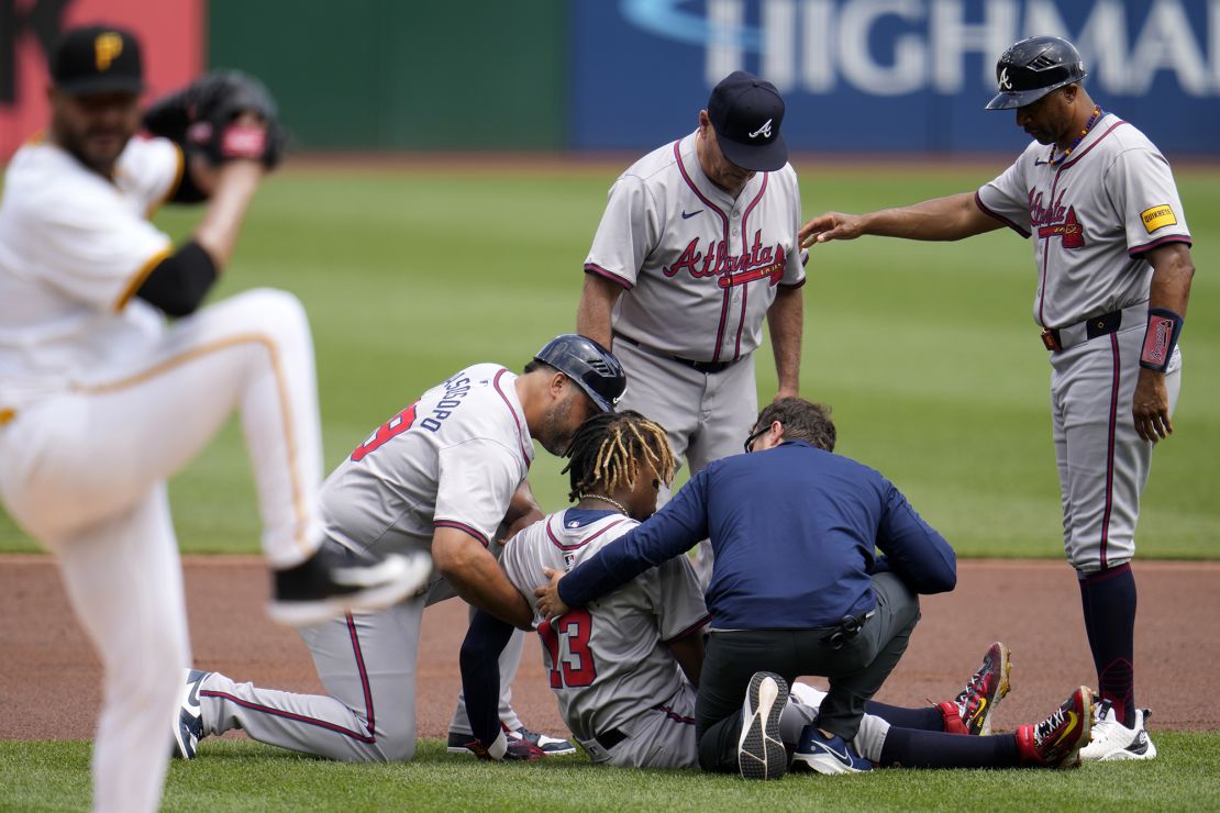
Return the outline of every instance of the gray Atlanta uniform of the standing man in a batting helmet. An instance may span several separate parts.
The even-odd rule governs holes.
[[[1058,329],[1063,345],[1050,357],[1050,405],[1064,549],[1088,573],[1135,555],[1152,462],[1153,444],[1131,417],[1152,280],[1144,252],[1190,243],[1191,234],[1169,163],[1116,116],[1102,116],[1070,160],[1047,158],[1047,147],[1031,143],[976,201],[1021,236],[1036,236],[1033,318]],[[1180,352],[1165,384],[1172,410]]]

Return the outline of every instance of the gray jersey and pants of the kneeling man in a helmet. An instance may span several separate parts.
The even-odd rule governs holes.
[[[445,527],[499,556],[500,522],[534,453],[516,378],[499,364],[475,364],[370,435],[322,486],[327,544],[427,550]],[[437,575],[425,595],[389,609],[303,629],[329,696],[207,675],[199,691],[204,734],[242,728],[255,740],[332,759],[410,759],[423,608],[454,595]]]

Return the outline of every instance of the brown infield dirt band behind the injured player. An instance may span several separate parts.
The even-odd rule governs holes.
[[[267,575],[260,559],[193,556],[184,569],[198,668],[267,687],[321,690],[305,645],[264,614]],[[1220,563],[1136,562],[1135,572],[1137,702],[1153,709],[1150,728],[1220,729],[1210,685],[1220,668]],[[1011,647],[1014,663],[998,730],[1036,722],[1075,686],[1096,680],[1076,578],[1063,562],[964,561],[958,589],[925,596],[922,612],[877,700],[920,706],[950,698],[993,640]],[[466,606],[458,600],[425,613],[416,698],[421,737],[447,733],[465,629]],[[0,557],[0,739],[92,736],[101,670],[49,557]],[[514,684],[514,706],[531,728],[564,733],[534,636]]]

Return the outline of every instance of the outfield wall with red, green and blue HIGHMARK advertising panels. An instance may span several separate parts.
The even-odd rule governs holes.
[[[737,68],[797,150],[1014,151],[996,56],[1054,33],[1171,156],[1220,155],[1220,0],[0,0],[0,160],[46,118],[45,46],[111,20],[154,91],[204,66],[267,82],[304,150],[644,150]]]

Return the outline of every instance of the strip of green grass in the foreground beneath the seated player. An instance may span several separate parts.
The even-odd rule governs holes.
[[[583,757],[489,765],[420,744],[406,764],[354,765],[250,741],[171,763],[165,811],[1185,811],[1220,807],[1220,734],[1155,733],[1158,759],[1080,770],[878,770],[748,783],[697,770],[594,768]],[[0,742],[0,808],[85,809],[88,742]]]

